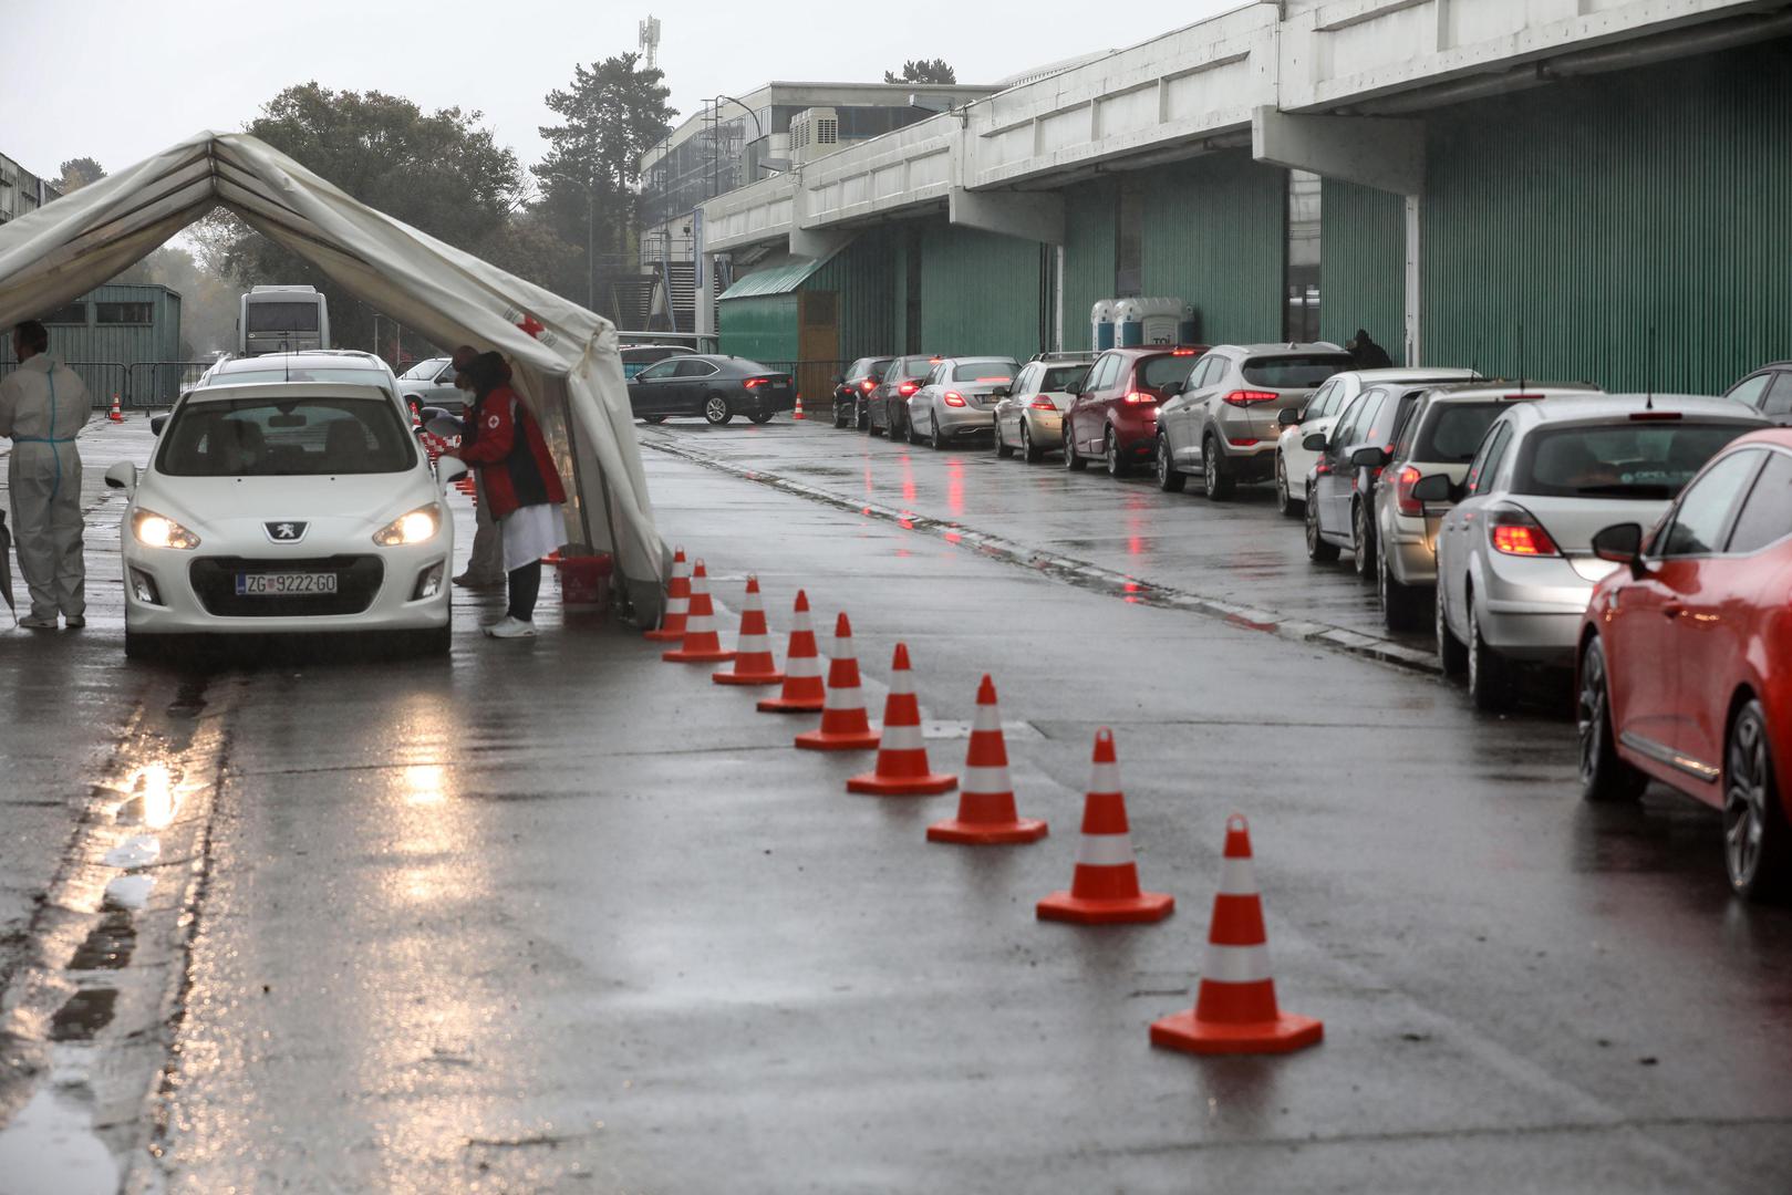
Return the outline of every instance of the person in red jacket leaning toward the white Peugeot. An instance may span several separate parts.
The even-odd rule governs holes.
[[[541,557],[566,541],[559,512],[566,491],[541,428],[511,389],[511,367],[504,358],[480,353],[464,373],[473,383],[473,401],[466,410],[466,435],[453,455],[478,469],[504,536],[511,593],[504,618],[484,632],[495,640],[525,640],[536,632]]]

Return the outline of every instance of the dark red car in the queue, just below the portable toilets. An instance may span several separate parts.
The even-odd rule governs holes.
[[[1064,412],[1064,468],[1100,460],[1113,477],[1158,450],[1158,403],[1183,392],[1204,344],[1142,344],[1107,349],[1090,365]]]

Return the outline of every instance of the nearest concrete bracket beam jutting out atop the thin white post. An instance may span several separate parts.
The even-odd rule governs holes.
[[[1425,193],[1425,122],[1251,111],[1251,156],[1396,195]]]

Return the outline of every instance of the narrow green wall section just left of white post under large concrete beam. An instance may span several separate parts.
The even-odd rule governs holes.
[[[1321,339],[1344,344],[1367,328],[1396,365],[1405,364],[1405,197],[1326,179],[1319,204]]]

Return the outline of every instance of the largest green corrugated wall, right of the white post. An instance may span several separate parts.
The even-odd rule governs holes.
[[[1792,357],[1792,41],[1468,104],[1428,156],[1428,360],[1719,392]]]

